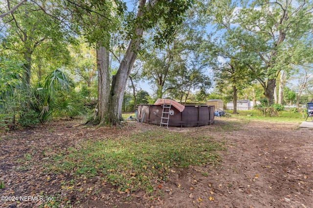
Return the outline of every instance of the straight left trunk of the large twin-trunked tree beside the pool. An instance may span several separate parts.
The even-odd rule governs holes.
[[[106,123],[109,110],[110,95],[110,72],[109,72],[109,60],[110,53],[100,43],[97,44],[96,57],[98,68],[98,115],[97,121],[100,125]]]

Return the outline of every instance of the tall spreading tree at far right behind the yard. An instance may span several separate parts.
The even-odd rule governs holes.
[[[305,41],[303,37],[312,32],[312,2],[254,0],[240,6],[230,0],[213,3],[209,10],[214,14],[212,22],[219,23],[218,29],[234,29],[234,44],[246,51],[246,64],[272,104],[279,72],[290,71],[290,53],[286,51],[292,51],[296,40]],[[255,59],[259,64],[250,65]]]

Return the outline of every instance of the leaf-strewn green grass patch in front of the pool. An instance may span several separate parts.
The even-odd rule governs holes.
[[[57,170],[77,177],[103,174],[116,189],[154,191],[154,181],[166,180],[171,169],[190,165],[216,165],[223,144],[203,134],[154,129],[130,137],[89,142],[80,151],[55,156]]]

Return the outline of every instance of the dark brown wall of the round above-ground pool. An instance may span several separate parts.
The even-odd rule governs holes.
[[[140,122],[142,121],[148,124],[160,125],[163,106],[141,104],[137,107],[137,118]],[[196,127],[214,123],[214,106],[186,105],[183,112],[179,112],[174,107],[172,107],[171,110],[173,112],[170,114],[169,126]]]

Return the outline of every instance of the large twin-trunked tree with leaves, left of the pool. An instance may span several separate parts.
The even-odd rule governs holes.
[[[118,13],[125,9],[126,3],[121,1],[99,2],[91,0],[86,4],[73,3],[81,20],[89,42],[96,43],[98,66],[98,120],[100,124],[119,124],[123,119],[121,114],[123,95],[134,61],[140,51],[143,32],[156,26],[158,21],[164,21],[164,27],[159,28],[155,39],[159,44],[170,41],[173,26],[181,23],[182,14],[191,6],[192,0],[139,0],[136,15],[125,16],[126,37],[129,40],[127,49],[120,61],[116,75],[110,86],[109,50],[112,32],[118,31],[116,21]],[[122,15],[123,16],[123,15]],[[123,16],[124,17],[124,16]],[[91,21],[91,24],[90,24]],[[86,33],[86,32],[85,32]],[[123,33],[123,31],[121,31]]]

